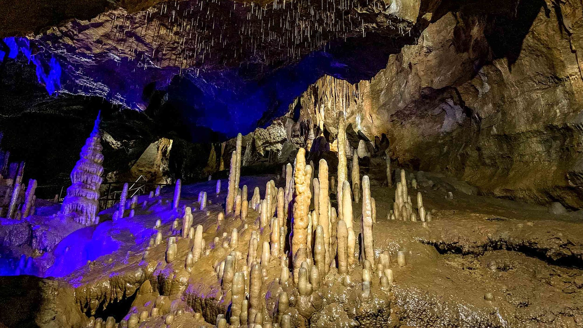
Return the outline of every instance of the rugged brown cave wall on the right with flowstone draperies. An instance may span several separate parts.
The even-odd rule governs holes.
[[[298,99],[300,120],[333,137],[345,109],[371,141],[387,135],[399,166],[497,197],[582,208],[581,10],[523,1],[508,15],[422,12],[431,23],[417,44],[370,81],[319,79]]]

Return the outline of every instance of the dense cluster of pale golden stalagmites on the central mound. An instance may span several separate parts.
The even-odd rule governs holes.
[[[342,148],[346,142],[343,138],[339,136],[339,147]],[[358,166],[357,154],[353,153],[354,156],[356,160],[353,159],[353,169]],[[382,299],[386,299],[394,278],[391,254],[374,247],[376,208],[374,198],[371,197],[369,177],[364,175],[360,180],[359,172],[356,172],[356,177],[352,176],[352,184],[359,190],[359,195],[361,190],[359,229],[359,225],[354,224],[352,197],[355,193],[346,179],[346,160],[343,163],[339,160],[338,171],[344,169],[345,172],[339,172],[338,180],[332,180],[337,181],[338,185],[330,190],[331,176],[326,160],[319,160],[316,170],[313,163],[306,163],[305,149],[300,148],[294,165],[289,163],[282,169],[285,186],[278,188],[274,180],[269,180],[265,183],[264,194],[261,194],[259,187],[255,187],[250,201],[247,201],[247,186],[239,189],[236,184],[237,171],[240,169],[237,168],[237,151],[231,157],[227,193],[232,198],[227,196],[225,212],[217,212],[210,203],[205,205],[206,193],[201,191],[198,205],[195,206],[205,209],[207,218],[212,213],[213,219],[206,219],[203,225],[193,226],[193,214],[201,211],[184,207],[184,214],[174,220],[170,229],[162,228],[160,220],[154,225],[156,233],[152,235],[150,249],[143,254],[143,259],[148,261],[150,252],[153,253],[151,247],[160,247],[159,252],[165,256],[168,267],[160,268],[157,288],[160,291],[163,288],[182,288],[180,292],[185,294],[165,295],[194,297],[198,300],[195,310],[202,312],[198,319],[204,316],[207,322],[225,328],[310,326],[309,320],[322,309],[323,304],[335,302],[332,298],[325,301],[322,299],[327,297],[322,291],[331,290],[323,288],[335,284],[337,286],[334,288],[343,288],[346,295],[356,295],[353,301],[359,306],[370,307],[372,313],[375,313],[375,307],[383,303],[377,302],[379,293],[386,293],[382,295]],[[397,183],[398,200],[406,211],[410,198],[406,194],[405,174],[400,173],[402,180]],[[280,184],[283,184],[283,179]],[[332,206],[330,199],[334,191],[338,201],[336,207]],[[422,218],[426,215],[420,195],[417,194],[417,205],[419,217]],[[180,196],[175,196],[177,198],[180,199]],[[173,213],[175,215],[181,211]],[[405,252],[399,251],[392,255],[396,265],[407,265]],[[208,266],[209,261],[212,261],[212,266]],[[162,261],[162,264],[154,266],[166,263]],[[205,271],[206,267],[212,267],[214,273],[206,275],[212,270]],[[161,279],[163,274],[166,274],[164,279],[172,282]],[[216,308],[212,310],[201,309],[204,305],[200,305],[201,298],[197,294],[200,291],[185,291],[189,278],[205,280],[205,283],[210,279],[210,289],[219,294],[213,298],[220,299],[222,305],[213,305]],[[175,281],[184,284],[178,288],[175,285],[181,285],[182,282]],[[220,312],[223,305],[224,312]],[[154,320],[156,316],[162,316],[163,311],[164,324],[180,320],[183,314],[177,310],[168,312],[157,306],[155,309],[129,315],[128,327],[138,327],[146,320]],[[217,309],[219,313],[216,313]],[[353,326],[356,322],[349,321],[346,324]]]

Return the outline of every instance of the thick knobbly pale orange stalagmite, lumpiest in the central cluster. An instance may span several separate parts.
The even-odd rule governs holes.
[[[308,233],[308,211],[310,210],[310,181],[305,172],[305,149],[300,148],[296,155],[296,171],[294,173],[296,198],[293,204],[293,235],[291,238],[291,254],[295,256],[298,250],[306,248]]]

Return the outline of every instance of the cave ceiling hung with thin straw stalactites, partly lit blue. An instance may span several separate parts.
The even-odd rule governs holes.
[[[135,110],[149,90],[226,135],[285,113],[324,74],[372,78],[449,11],[516,15],[517,1],[22,1],[3,4],[0,60],[36,65],[47,92]],[[27,6],[28,5],[28,6]],[[433,13],[433,18],[432,18]]]

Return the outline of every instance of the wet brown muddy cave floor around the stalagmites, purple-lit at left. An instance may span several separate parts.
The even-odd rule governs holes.
[[[249,187],[250,196],[258,186],[263,196],[265,184],[271,179],[276,177],[241,177],[241,186]],[[276,181],[278,187],[284,183]],[[167,264],[164,260],[168,237],[180,234],[180,226],[173,230],[172,223],[183,214],[170,209],[170,188],[157,199],[140,197],[138,204],[148,203],[145,209],[138,206],[133,218],[104,222],[111,219],[113,208],[103,211],[101,225],[108,224],[108,229],[102,233],[111,236],[120,247],[66,277],[54,278],[61,297],[57,307],[72,308],[63,311],[71,316],[66,320],[74,321],[72,317],[78,316],[77,322],[86,321],[93,315],[103,317],[104,321],[107,316],[115,316],[119,322],[127,320],[131,313],[150,312],[156,306],[161,308],[161,313],[184,309],[184,314],[175,316],[172,327],[199,327],[205,324],[203,320],[209,322],[208,326],[216,324],[216,315],[227,310],[229,301],[221,296],[215,265],[230,249],[221,246],[228,237],[220,238],[219,245],[214,245],[213,238],[221,237],[223,232],[230,236],[231,229],[238,227],[240,242],[236,250],[243,253],[240,261],[244,263],[257,212],[249,211],[245,222],[250,229],[241,231],[240,219],[227,217],[217,231],[216,218],[223,211],[226,188],[215,197],[215,185],[216,180],[211,180],[182,187],[179,208],[193,208],[193,225],[203,225],[206,243],[214,248],[195,263],[191,273],[184,270],[185,257],[192,246],[188,238],[178,238],[174,261]],[[198,207],[199,191],[206,191],[211,201],[204,211],[194,210]],[[445,197],[447,192],[443,190],[423,188],[409,188],[410,196],[414,198],[417,191],[423,194],[423,203],[433,215],[427,227],[421,222],[387,219],[394,189],[379,183],[371,186],[377,207],[373,228],[375,253],[390,252],[394,273],[391,291],[385,291],[375,302],[389,303],[390,316],[385,313],[386,316],[380,315],[374,322],[359,320],[362,316],[354,317],[347,311],[350,319],[358,323],[350,319],[334,321],[333,314],[324,320],[326,316],[321,314],[319,319],[312,317],[306,324],[322,327],[356,324],[361,327],[378,324],[387,327],[583,326],[583,226],[577,216],[552,215],[546,207],[470,196],[455,190],[452,200]],[[331,196],[333,199],[335,196]],[[353,203],[353,212],[354,229],[359,233],[360,203]],[[152,227],[157,219],[162,221],[163,242],[151,246],[143,259],[150,237],[156,235]],[[130,221],[134,223],[129,224]],[[261,234],[261,240],[269,240],[269,235]],[[405,250],[404,267],[396,264],[398,250]],[[262,292],[266,308],[273,308],[281,290],[275,287],[278,284],[273,278],[279,277],[279,259],[272,259],[267,271],[271,278],[264,280]],[[356,294],[360,291],[360,272],[361,264],[357,263],[351,274],[356,286],[346,289],[332,269],[328,277],[322,278],[327,283],[319,292]],[[156,280],[157,285],[153,287],[152,282]],[[378,285],[378,278],[374,281],[373,278],[373,288]],[[488,293],[491,295],[486,296]],[[230,299],[230,291],[225,294]],[[347,297],[343,303],[345,309],[350,306],[350,299]],[[354,307],[358,306],[356,303]],[[80,308],[85,311],[82,315],[79,315]],[[202,317],[195,312],[202,312]],[[166,327],[164,316],[150,317],[140,327]]]

